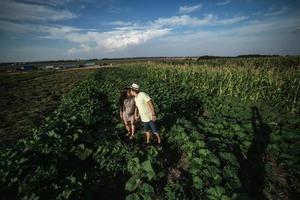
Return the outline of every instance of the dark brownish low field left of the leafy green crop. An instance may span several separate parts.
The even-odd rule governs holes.
[[[95,69],[0,73],[0,146],[30,135],[63,94]]]

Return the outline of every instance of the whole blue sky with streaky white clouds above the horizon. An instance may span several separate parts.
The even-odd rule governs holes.
[[[300,0],[1,0],[0,62],[300,55]]]

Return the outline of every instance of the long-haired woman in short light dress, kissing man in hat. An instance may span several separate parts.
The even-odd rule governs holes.
[[[130,91],[126,88],[121,92],[119,99],[120,117],[124,121],[130,139],[135,134],[135,121],[137,116],[137,108],[135,106],[134,98],[130,95]]]

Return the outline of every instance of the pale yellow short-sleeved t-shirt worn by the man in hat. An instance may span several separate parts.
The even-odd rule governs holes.
[[[148,106],[148,101],[151,100],[148,94],[145,92],[139,92],[136,97],[134,97],[135,105],[139,110],[142,122],[149,122],[152,119],[152,113]]]

